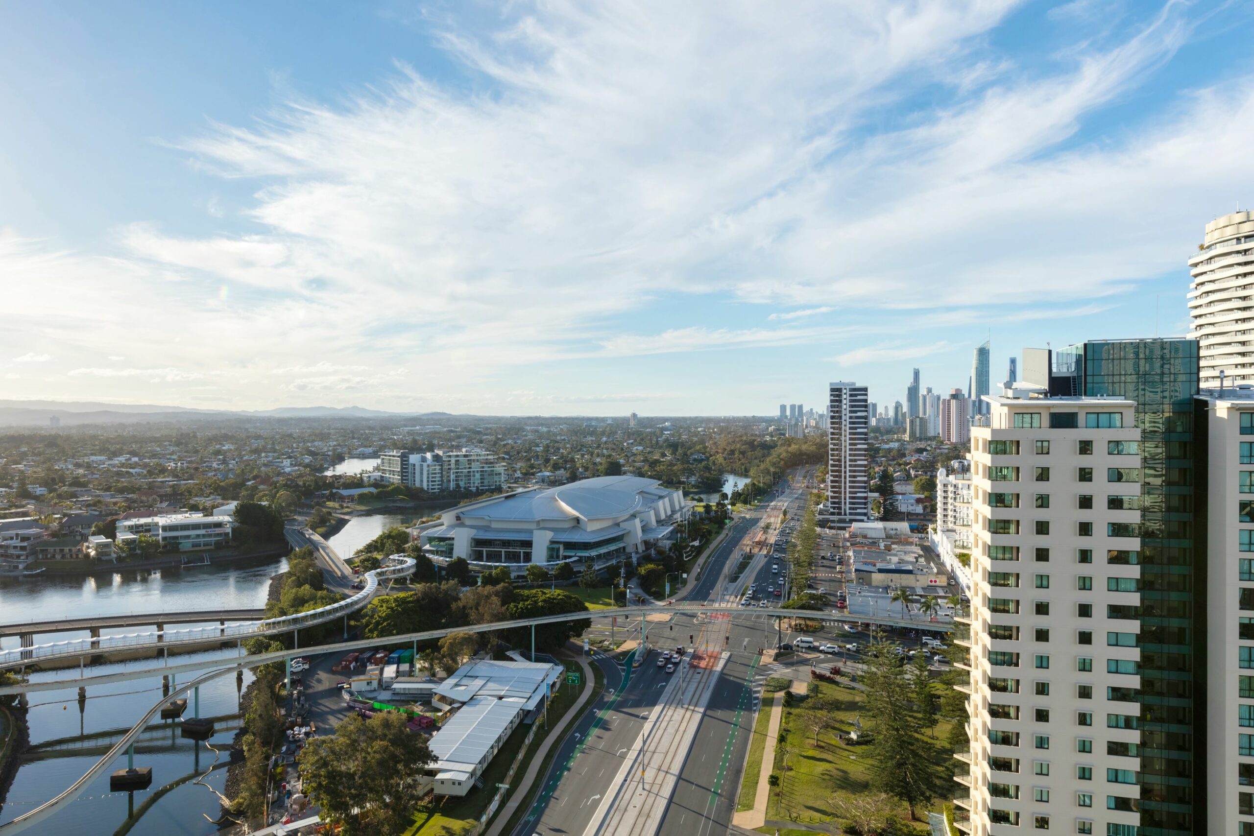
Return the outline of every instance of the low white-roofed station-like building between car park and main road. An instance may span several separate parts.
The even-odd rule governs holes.
[[[535,719],[566,668],[542,662],[468,662],[435,688],[431,704],[455,708],[428,746],[435,762],[423,780],[436,795],[464,796],[509,736]]]

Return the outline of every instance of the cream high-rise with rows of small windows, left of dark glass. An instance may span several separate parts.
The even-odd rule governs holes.
[[[1014,390],[1008,390],[1012,394]],[[1135,836],[1134,401],[986,397],[972,429],[971,767],[958,827]],[[1235,832],[1235,831],[1213,831]]]

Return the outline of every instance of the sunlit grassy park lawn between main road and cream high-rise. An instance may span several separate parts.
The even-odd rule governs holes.
[[[776,684],[769,679],[764,696],[769,696],[780,684],[782,682]],[[819,709],[806,708],[808,702]],[[754,724],[737,810],[754,807],[774,704],[774,701],[764,699]],[[793,694],[791,704],[782,708],[771,770],[767,825],[759,827],[761,832],[790,832],[782,826],[784,822],[801,825],[798,832],[814,832],[805,827],[831,833],[858,832],[851,828],[849,816],[851,810],[867,806],[878,806],[880,812],[895,813],[902,821],[900,828],[894,832],[929,832],[925,821],[909,821],[904,803],[883,798],[874,792],[870,745],[846,742],[851,732],[860,731],[860,724],[869,724],[865,692],[854,686],[816,682],[810,686],[810,696]],[[919,818],[925,818],[924,813],[929,810],[939,811],[958,788],[952,780],[957,762],[944,746],[948,731],[949,722],[946,719],[939,719],[933,729],[923,731],[924,751],[934,767],[932,773],[935,780],[932,786],[933,801],[917,808]],[[865,738],[865,733],[860,736]],[[875,801],[877,797],[879,801]],[[846,826],[845,831],[841,831],[841,825]]]

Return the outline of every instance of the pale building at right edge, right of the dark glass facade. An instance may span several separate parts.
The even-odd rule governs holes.
[[[1208,831],[1254,833],[1254,390],[1206,406]]]

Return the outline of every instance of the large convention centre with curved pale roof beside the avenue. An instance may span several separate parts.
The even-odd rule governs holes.
[[[445,511],[418,531],[435,563],[455,558],[475,572],[532,563],[591,562],[597,567],[647,550],[675,533],[683,495],[640,476],[598,476],[558,488],[529,488]]]

